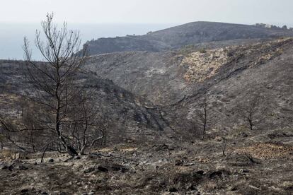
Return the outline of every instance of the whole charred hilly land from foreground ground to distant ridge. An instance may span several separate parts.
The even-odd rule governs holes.
[[[85,63],[55,93],[62,134],[48,122],[57,115],[45,79],[54,68],[36,90],[26,61],[1,60],[0,191],[292,194],[292,37],[196,22],[88,41]],[[32,63],[42,70],[50,60]],[[48,97],[42,105],[38,93]],[[92,147],[81,153],[86,139]]]

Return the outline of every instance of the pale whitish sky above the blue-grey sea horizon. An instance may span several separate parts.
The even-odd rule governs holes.
[[[54,11],[69,23],[293,23],[292,0],[0,0],[1,22],[39,22]]]

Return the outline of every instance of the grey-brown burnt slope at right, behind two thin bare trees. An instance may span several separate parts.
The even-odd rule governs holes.
[[[177,113],[176,119],[188,119],[193,115],[197,103],[207,97],[212,104],[210,112],[217,113],[215,120],[219,120],[219,123],[215,126],[218,129],[246,129],[247,122],[241,117],[239,109],[243,110],[241,106],[249,105],[253,98],[261,96],[253,113],[256,129],[292,128],[293,42],[279,41],[255,45],[249,50],[245,47],[246,52],[238,48],[241,55],[220,67],[217,63],[204,64],[206,69],[217,71],[208,72],[203,81],[193,80],[196,89],[193,95],[168,107],[171,108],[168,112]],[[193,68],[190,71],[189,67],[185,76],[196,79],[202,70],[194,68],[198,59],[193,60],[187,61]]]

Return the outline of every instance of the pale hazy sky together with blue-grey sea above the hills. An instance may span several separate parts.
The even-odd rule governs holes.
[[[54,22],[66,20],[83,42],[194,21],[293,27],[293,0],[0,0],[0,6],[0,59],[23,59],[23,36],[33,42],[52,11]],[[33,57],[41,58],[38,52]]]

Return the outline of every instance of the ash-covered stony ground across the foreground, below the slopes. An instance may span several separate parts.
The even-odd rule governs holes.
[[[1,194],[293,194],[293,129],[0,162]],[[225,144],[226,143],[226,144]],[[226,147],[225,147],[226,145]],[[224,154],[223,154],[224,150]],[[2,153],[2,157],[3,157]],[[67,162],[64,162],[66,161]]]

